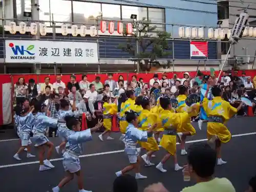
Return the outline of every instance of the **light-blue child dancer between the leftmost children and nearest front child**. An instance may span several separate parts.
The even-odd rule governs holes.
[[[50,158],[54,149],[54,145],[49,139],[45,136],[46,129],[48,126],[57,127],[57,123],[63,123],[65,121],[52,119],[45,115],[46,108],[45,103],[37,101],[35,103],[35,111],[37,112],[33,119],[33,137],[31,138],[32,142],[35,142],[38,147],[38,158],[39,158],[39,171],[48,170],[54,168],[50,162]],[[48,147],[47,158],[44,160],[45,147]]]

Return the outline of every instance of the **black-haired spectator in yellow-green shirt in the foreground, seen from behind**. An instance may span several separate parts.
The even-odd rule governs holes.
[[[188,171],[197,184],[185,187],[182,192],[236,192],[226,178],[215,178],[217,154],[207,143],[194,143],[188,148]]]

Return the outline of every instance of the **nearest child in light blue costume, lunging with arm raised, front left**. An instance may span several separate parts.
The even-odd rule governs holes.
[[[74,175],[76,175],[78,179],[77,183],[79,192],[92,192],[83,188],[79,155],[83,153],[82,143],[92,140],[92,133],[99,130],[103,124],[102,120],[98,120],[95,127],[84,131],[80,131],[81,124],[75,117],[67,116],[65,117],[65,120],[68,129],[71,130],[71,134],[68,136],[68,143],[66,145],[67,151],[63,154],[63,167],[67,176],[59,182],[58,186],[52,188],[52,190],[53,192],[58,192],[60,188],[69,183],[74,178]]]

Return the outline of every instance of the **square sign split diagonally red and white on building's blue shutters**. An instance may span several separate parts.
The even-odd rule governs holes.
[[[190,41],[190,57],[208,57],[208,41]]]

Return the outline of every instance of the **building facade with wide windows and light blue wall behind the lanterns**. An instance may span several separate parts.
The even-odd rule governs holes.
[[[1,1],[0,1],[1,2]],[[4,8],[4,9],[3,9]],[[120,44],[127,42],[127,37],[120,36],[117,33],[113,35],[100,34],[97,37],[73,37],[71,34],[62,36],[60,26],[67,23],[69,26],[72,24],[78,27],[83,24],[90,28],[90,17],[96,17],[99,12],[102,12],[103,20],[114,20],[115,28],[117,28],[117,21],[120,22],[133,22],[131,14],[137,15],[137,19],[151,20],[152,25],[157,26],[158,31],[167,31],[172,34],[172,39],[168,40],[170,47],[170,54],[167,59],[175,61],[175,65],[190,66],[190,69],[198,64],[198,59],[207,60],[207,65],[219,66],[217,42],[211,40],[208,42],[208,54],[205,58],[193,57],[190,54],[190,39],[179,39],[178,28],[180,26],[206,26],[216,27],[217,24],[217,6],[216,5],[202,5],[191,1],[174,1],[170,4],[167,1],[159,0],[159,2],[149,0],[2,0],[1,13],[3,18],[2,26],[3,38],[0,42],[0,58],[3,61],[5,56],[5,40],[6,39],[23,39],[32,40],[35,37],[29,32],[26,34],[10,34],[9,24],[12,18],[17,18],[15,22],[24,21],[29,26],[31,19],[44,21],[48,27],[48,34],[40,36],[41,40],[58,40],[58,41],[84,41],[84,42],[97,42],[98,44],[98,57],[101,63],[101,70],[133,70],[133,62],[129,61],[131,55],[123,52],[118,48]],[[32,13],[32,17],[30,15]],[[54,26],[54,27],[53,27]],[[18,31],[18,30],[17,30]],[[135,39],[132,40],[136,44]],[[202,40],[203,41],[203,40]],[[201,62],[205,65],[206,62]],[[81,72],[82,71],[95,71],[97,65],[84,65],[78,64],[74,68],[74,64],[57,63],[57,72]],[[110,68],[110,65],[112,67]],[[2,70],[7,73],[21,72],[19,68],[23,68],[22,73],[34,72],[34,67],[31,63],[6,63]],[[41,63],[40,71],[50,73],[53,65],[49,63]],[[114,71],[114,70],[113,70]]]

